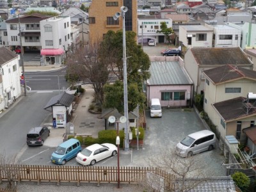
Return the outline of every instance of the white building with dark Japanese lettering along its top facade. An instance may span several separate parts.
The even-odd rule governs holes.
[[[166,36],[163,33],[157,33],[161,30],[161,22],[166,22],[167,28],[172,28],[172,19],[144,19],[138,18],[138,43],[147,43],[148,40],[155,40],[157,43],[164,43]]]

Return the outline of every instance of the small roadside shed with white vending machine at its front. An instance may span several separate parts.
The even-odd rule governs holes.
[[[63,92],[60,95],[52,97],[44,107],[45,110],[48,108],[52,109],[52,122],[56,121],[56,127],[64,128],[67,122],[70,121],[74,98],[74,95]]]

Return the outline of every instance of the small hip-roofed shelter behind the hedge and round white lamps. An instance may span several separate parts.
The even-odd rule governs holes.
[[[115,108],[108,108],[108,109],[103,109],[102,114],[100,115],[100,118],[105,120],[105,130],[107,130],[109,127],[109,121],[108,121],[109,116],[115,116],[116,122],[119,122],[118,124],[119,130],[124,128],[124,124],[120,123],[120,120],[119,120],[120,117],[123,115],[121,115],[118,112],[118,110]],[[135,108],[134,111],[129,112],[128,117],[129,117],[129,127],[136,127],[137,118],[138,118],[138,108]]]

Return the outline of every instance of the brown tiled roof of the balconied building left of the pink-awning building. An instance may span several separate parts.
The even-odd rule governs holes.
[[[39,13],[35,13],[33,15],[24,15],[24,16],[20,17],[20,22],[21,23],[29,23],[29,22],[39,23],[40,20],[44,20],[44,19],[47,19],[50,17],[52,17],[52,16],[45,16],[45,15],[42,15]],[[7,23],[17,23],[17,22],[19,22],[19,17],[8,19],[8,20],[6,20],[6,22]]]

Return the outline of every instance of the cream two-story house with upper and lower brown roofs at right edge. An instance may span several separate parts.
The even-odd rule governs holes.
[[[204,111],[220,132],[222,140],[227,135],[246,141],[243,129],[255,125],[255,99],[248,93],[256,92],[256,72],[236,65],[205,70]]]

